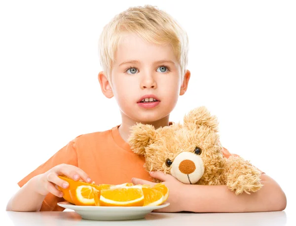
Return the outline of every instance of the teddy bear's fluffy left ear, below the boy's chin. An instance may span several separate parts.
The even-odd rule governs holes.
[[[148,145],[155,141],[156,130],[152,125],[137,123],[131,127],[128,144],[136,154],[145,154]]]

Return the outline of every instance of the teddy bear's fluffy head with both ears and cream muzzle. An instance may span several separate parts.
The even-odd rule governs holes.
[[[205,107],[186,114],[183,124],[154,129],[138,123],[131,132],[128,142],[135,153],[145,156],[147,171],[171,174],[185,184],[221,179],[224,159],[218,120]]]

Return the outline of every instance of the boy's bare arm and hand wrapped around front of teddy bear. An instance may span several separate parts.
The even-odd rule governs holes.
[[[251,194],[236,195],[225,185],[186,185],[169,174],[152,172],[151,177],[163,181],[169,188],[168,207],[155,212],[191,211],[209,212],[262,212],[281,211],[286,208],[286,195],[280,186],[266,174],[261,174],[261,189]],[[134,184],[155,184],[133,178]]]

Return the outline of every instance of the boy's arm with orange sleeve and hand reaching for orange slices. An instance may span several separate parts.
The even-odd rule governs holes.
[[[57,205],[64,201],[61,191],[55,185],[62,187],[63,181],[58,175],[66,175],[73,178],[74,174],[83,180],[87,175],[79,169],[77,153],[74,148],[75,140],[56,152],[42,165],[18,182],[21,187],[8,201],[7,211],[63,211],[64,208]],[[79,178],[77,178],[79,180]],[[67,183],[66,183],[67,184]]]

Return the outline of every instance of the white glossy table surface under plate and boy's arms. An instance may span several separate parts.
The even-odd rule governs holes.
[[[261,213],[150,213],[134,221],[88,221],[75,212],[0,213],[1,226],[296,226],[285,211]]]

